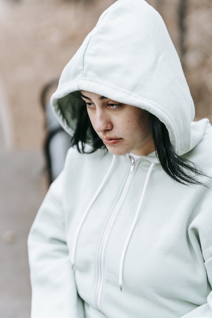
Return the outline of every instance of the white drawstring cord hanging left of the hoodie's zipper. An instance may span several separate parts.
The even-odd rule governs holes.
[[[79,225],[78,225],[78,228],[77,228],[77,231],[76,231],[76,234],[75,234],[75,238],[74,238],[74,242],[73,242],[73,249],[72,249],[72,256],[71,256],[72,269],[73,269],[73,267],[74,267],[75,253],[76,253],[77,241],[78,241],[78,238],[79,238],[80,230],[81,230],[81,228],[82,228],[82,225],[83,225],[83,223],[84,223],[84,221],[85,221],[85,218],[86,218],[87,215],[88,215],[88,212],[89,212],[89,210],[90,210],[90,208],[91,208],[93,202],[96,200],[97,196],[99,195],[99,192],[102,190],[102,188],[103,188],[103,186],[104,186],[104,184],[105,184],[105,182],[106,182],[108,176],[110,175],[110,172],[111,172],[111,170],[112,170],[112,168],[113,168],[114,161],[115,161],[115,155],[113,155],[113,159],[112,159],[112,162],[111,162],[111,164],[110,164],[110,167],[109,167],[109,169],[108,169],[108,171],[107,171],[107,173],[106,173],[104,179],[102,180],[102,182],[101,182],[99,188],[97,189],[96,193],[94,194],[94,196],[93,196],[93,198],[92,198],[90,204],[88,205],[88,207],[87,207],[87,209],[86,209],[86,211],[85,211],[85,213],[84,213],[84,215],[83,215],[83,217],[82,217],[82,219],[81,219],[81,221],[80,221],[80,223],[79,223]]]

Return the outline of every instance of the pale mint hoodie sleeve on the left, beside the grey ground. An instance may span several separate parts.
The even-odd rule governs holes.
[[[84,317],[65,241],[62,178],[52,183],[28,237],[31,318]]]

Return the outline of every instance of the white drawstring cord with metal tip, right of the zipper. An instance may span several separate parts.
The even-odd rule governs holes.
[[[135,225],[136,225],[136,222],[137,222],[137,219],[138,219],[140,207],[141,207],[141,204],[142,204],[142,201],[143,201],[143,198],[144,198],[144,194],[145,194],[145,191],[146,191],[146,188],[147,188],[147,183],[148,183],[148,180],[149,180],[149,177],[150,177],[150,174],[152,172],[153,167],[154,167],[154,163],[151,163],[151,165],[149,167],[149,170],[147,172],[147,176],[146,176],[146,180],[145,180],[145,183],[144,183],[144,188],[143,188],[143,191],[142,191],[142,194],[141,194],[140,202],[139,202],[137,211],[135,213],[135,217],[133,219],[133,223],[131,225],[129,234],[127,236],[123,251],[122,251],[120,267],[119,267],[119,287],[120,287],[120,292],[122,292],[123,266],[124,266],[124,259],[125,259],[125,254],[126,254],[126,251],[127,251],[127,246],[129,244],[129,241],[131,239],[132,233],[134,231],[134,228],[135,228]]]

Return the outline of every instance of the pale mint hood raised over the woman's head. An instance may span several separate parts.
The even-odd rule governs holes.
[[[65,66],[51,105],[70,135],[80,90],[154,114],[179,155],[202,139],[208,123],[191,124],[194,103],[179,57],[161,16],[144,0],[119,0],[104,11]]]

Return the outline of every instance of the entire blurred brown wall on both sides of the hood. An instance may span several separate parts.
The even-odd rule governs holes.
[[[65,64],[113,0],[0,0],[0,116],[10,147],[41,148],[44,114],[40,92]],[[180,0],[148,0],[165,20],[181,55],[196,119],[212,120],[211,0],[184,0],[181,54]],[[2,115],[1,115],[2,114]],[[10,126],[8,128],[8,126]]]

